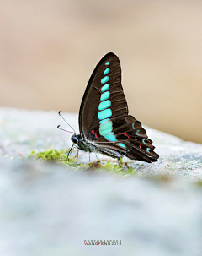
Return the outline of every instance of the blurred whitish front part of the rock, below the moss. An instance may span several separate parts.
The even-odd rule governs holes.
[[[202,191],[0,158],[0,255],[201,255]],[[121,240],[121,245],[84,245]]]

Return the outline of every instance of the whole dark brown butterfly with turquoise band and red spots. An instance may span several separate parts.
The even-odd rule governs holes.
[[[125,155],[131,160],[148,163],[159,158],[141,122],[128,115],[121,85],[120,60],[112,52],[94,68],[78,118],[80,134],[74,133],[71,139],[79,150],[117,159]]]

